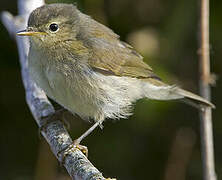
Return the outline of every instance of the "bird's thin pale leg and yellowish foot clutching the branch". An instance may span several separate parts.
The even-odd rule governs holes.
[[[97,121],[95,124],[93,124],[92,127],[90,127],[86,132],[84,132],[79,138],[75,139],[72,144],[70,144],[67,148],[65,148],[64,150],[61,150],[59,154],[62,154],[62,164],[65,160],[66,154],[72,150],[73,148],[77,148],[80,151],[82,151],[83,154],[85,154],[86,156],[88,156],[88,148],[86,146],[82,146],[80,145],[80,142],[86,137],[88,136],[91,132],[93,132],[93,130],[95,128],[97,128],[98,126],[102,127],[102,122],[103,120]]]

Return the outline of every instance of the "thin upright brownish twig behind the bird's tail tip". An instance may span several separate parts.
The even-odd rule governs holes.
[[[211,92],[209,83],[210,74],[210,49],[209,49],[209,0],[201,0],[201,39],[200,39],[200,93],[210,100]],[[212,130],[212,111],[206,107],[200,112],[201,144],[203,161],[203,179],[216,180],[214,167],[214,144]]]

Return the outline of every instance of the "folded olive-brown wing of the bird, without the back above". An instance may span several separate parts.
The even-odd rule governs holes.
[[[119,39],[94,38],[89,65],[100,72],[135,78],[158,78],[131,46]]]

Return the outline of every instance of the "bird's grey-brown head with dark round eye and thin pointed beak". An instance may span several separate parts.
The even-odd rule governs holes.
[[[19,36],[29,36],[34,44],[50,46],[75,39],[79,31],[79,10],[72,4],[49,4],[35,9],[28,27]]]

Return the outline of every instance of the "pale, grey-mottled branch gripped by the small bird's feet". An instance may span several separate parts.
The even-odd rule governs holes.
[[[19,16],[13,17],[9,12],[1,14],[1,20],[9,34],[16,38],[26,101],[39,127],[44,124],[43,117],[52,115],[55,113],[55,109],[45,93],[31,80],[27,65],[29,41],[26,37],[16,37],[16,32],[26,28],[29,14],[43,4],[44,0],[18,0]],[[58,153],[68,147],[72,143],[72,139],[61,121],[58,120],[47,124],[41,133],[49,143],[54,155],[62,162],[62,157],[58,157]],[[72,179],[75,180],[105,179],[102,173],[76,148],[66,152],[64,167]]]

